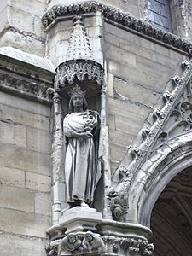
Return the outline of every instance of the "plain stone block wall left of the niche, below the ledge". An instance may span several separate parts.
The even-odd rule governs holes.
[[[50,224],[49,106],[0,92],[1,255],[44,255]]]

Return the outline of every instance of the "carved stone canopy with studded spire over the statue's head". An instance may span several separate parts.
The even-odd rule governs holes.
[[[94,61],[90,38],[85,31],[81,16],[75,16],[73,22],[66,61],[56,70],[56,87],[65,87],[66,84],[74,84],[86,79],[101,86],[103,67]]]

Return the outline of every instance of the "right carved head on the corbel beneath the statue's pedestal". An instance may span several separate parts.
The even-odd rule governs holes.
[[[84,235],[82,245],[87,251],[101,252],[104,247],[104,242],[102,241],[102,237],[99,234],[87,231]]]

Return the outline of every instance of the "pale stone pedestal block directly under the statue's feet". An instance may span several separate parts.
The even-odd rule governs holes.
[[[63,212],[60,226],[66,228],[66,234],[84,233],[87,230],[96,231],[96,224],[102,222],[102,213],[89,207],[73,207]]]

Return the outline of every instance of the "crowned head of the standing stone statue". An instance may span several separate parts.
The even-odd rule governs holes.
[[[73,113],[74,108],[83,108],[84,111],[87,109],[87,102],[84,94],[85,91],[81,90],[78,84],[73,87],[73,90],[69,91],[69,113]]]

